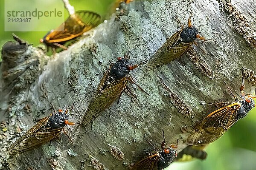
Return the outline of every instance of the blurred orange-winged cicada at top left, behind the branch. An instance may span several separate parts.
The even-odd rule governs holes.
[[[52,48],[61,47],[66,49],[66,47],[62,45],[64,42],[89,31],[98,26],[100,22],[101,17],[99,14],[91,11],[76,11],[58,28],[49,31],[40,42],[44,42],[44,44]]]

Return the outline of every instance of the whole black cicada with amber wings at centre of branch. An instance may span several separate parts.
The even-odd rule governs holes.
[[[125,91],[132,99],[136,99],[136,96],[132,93],[131,88],[127,85],[127,82],[134,83],[145,92],[128,74],[131,70],[137,68],[140,64],[131,65],[128,55],[124,58],[118,57],[115,64],[112,64],[108,71],[105,72],[99,86],[90,102],[81,125],[87,126],[96,119],[108,106],[110,106],[117,97],[120,97],[122,92]],[[147,92],[145,92],[148,94]]]

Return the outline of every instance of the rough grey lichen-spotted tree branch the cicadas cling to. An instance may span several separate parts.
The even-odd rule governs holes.
[[[7,42],[0,70],[0,169],[125,170],[152,150],[144,138],[160,147],[162,129],[166,143],[176,144],[179,139],[179,149],[186,147],[188,132],[215,109],[208,104],[233,100],[223,82],[239,91],[241,68],[256,70],[255,8],[254,0],[134,0],[122,3],[107,23],[53,58],[31,45]],[[9,144],[52,112],[49,102],[64,109],[75,101],[70,117],[81,122],[109,61],[115,62],[126,51],[131,51],[134,63],[150,59],[180,29],[175,17],[186,24],[190,11],[201,35],[216,43],[197,41],[206,53],[194,46],[155,70],[168,87],[141,66],[131,71],[150,94],[132,85],[140,108],[122,94],[120,102],[114,102],[91,127],[66,127],[76,147],[61,134],[51,144],[7,155]]]

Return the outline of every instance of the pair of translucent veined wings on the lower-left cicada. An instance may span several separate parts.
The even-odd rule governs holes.
[[[61,132],[61,129],[42,128],[47,123],[50,116],[52,116],[52,114],[41,119],[37,124],[17,139],[17,141],[11,144],[7,149],[9,155],[26,152],[27,150],[38,147],[55,138],[55,136]],[[41,128],[42,130],[40,130]]]

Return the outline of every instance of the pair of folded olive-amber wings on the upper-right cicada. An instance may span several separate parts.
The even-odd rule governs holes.
[[[172,45],[179,39],[181,31],[177,31],[172,35],[172,37],[163,43],[163,45],[157,50],[157,52],[145,66],[146,71],[150,71],[161,65],[164,65],[173,59],[180,57],[182,54],[189,50],[189,47],[191,47],[193,42],[182,43],[172,47]]]

